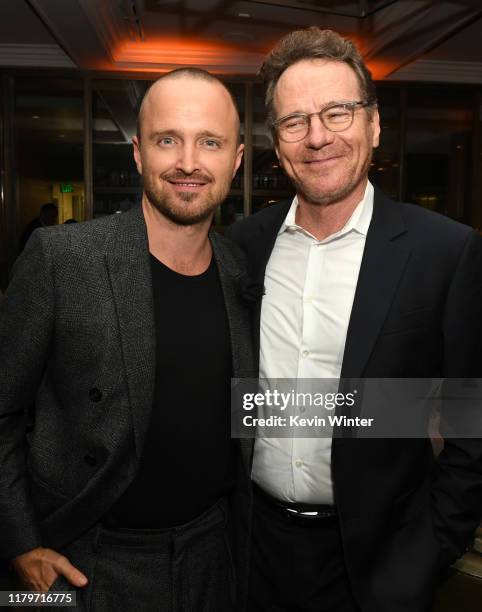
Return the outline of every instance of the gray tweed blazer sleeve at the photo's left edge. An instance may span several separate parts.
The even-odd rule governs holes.
[[[26,466],[27,413],[35,402],[54,324],[53,258],[37,230],[0,303],[0,557],[41,545]]]

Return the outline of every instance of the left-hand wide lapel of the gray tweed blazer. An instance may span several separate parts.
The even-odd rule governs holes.
[[[152,409],[156,358],[149,247],[140,206],[119,215],[118,231],[106,245],[106,263],[140,458]]]

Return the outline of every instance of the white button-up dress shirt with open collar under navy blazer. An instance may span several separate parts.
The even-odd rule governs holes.
[[[373,186],[345,226],[318,240],[296,224],[295,197],[266,267],[260,378],[340,377]],[[333,504],[330,438],[258,438],[252,479],[287,502]]]

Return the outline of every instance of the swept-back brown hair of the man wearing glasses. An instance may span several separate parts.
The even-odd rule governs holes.
[[[364,100],[370,105],[376,105],[377,96],[371,72],[354,43],[338,32],[312,26],[305,30],[295,30],[281,38],[258,72],[267,86],[265,103],[269,126],[276,119],[273,100],[279,78],[293,64],[310,59],[328,59],[348,64],[355,72]]]

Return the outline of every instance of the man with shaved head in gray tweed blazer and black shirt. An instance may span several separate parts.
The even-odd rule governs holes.
[[[133,142],[142,205],[36,231],[2,302],[0,552],[17,589],[74,592],[77,609],[241,609],[250,482],[229,400],[253,374],[246,277],[208,234],[242,158],[232,96],[168,73]]]

